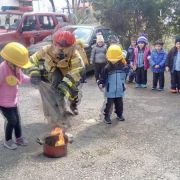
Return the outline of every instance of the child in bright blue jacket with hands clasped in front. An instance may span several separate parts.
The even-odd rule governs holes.
[[[164,70],[167,54],[163,49],[164,43],[162,40],[155,42],[155,49],[151,53],[150,65],[153,72],[153,87],[152,90],[164,90]],[[159,88],[157,83],[159,81]]]

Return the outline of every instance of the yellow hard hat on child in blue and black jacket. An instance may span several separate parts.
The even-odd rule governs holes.
[[[122,48],[116,44],[111,45],[107,50],[106,58],[112,63],[116,63],[117,61],[124,59]]]

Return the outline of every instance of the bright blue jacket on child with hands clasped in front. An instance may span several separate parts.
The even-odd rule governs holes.
[[[167,58],[167,53],[164,51],[164,49],[161,49],[160,52],[154,49],[151,53],[151,59],[150,59],[152,72],[154,73],[163,72],[165,70],[166,58]],[[159,65],[160,67],[155,68],[156,65]]]

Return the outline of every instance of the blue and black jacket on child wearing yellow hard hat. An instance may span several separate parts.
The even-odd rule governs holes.
[[[121,61],[116,64],[108,63],[102,72],[98,84],[105,87],[105,97],[123,97],[125,91],[126,67]]]

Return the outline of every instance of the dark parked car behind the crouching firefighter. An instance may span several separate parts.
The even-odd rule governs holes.
[[[105,43],[109,45],[110,41],[113,39],[114,41],[119,42],[118,36],[110,29],[104,26],[99,25],[68,25],[61,30],[71,31],[75,34],[77,39],[81,39],[85,44],[85,51],[88,56],[88,59],[91,55],[92,46],[96,43],[96,34],[101,32]],[[52,42],[52,36],[47,36],[42,42],[39,42],[35,45],[31,45],[28,50],[30,55],[35,53],[42,46],[50,44]],[[92,65],[89,65],[88,70],[92,70]]]

